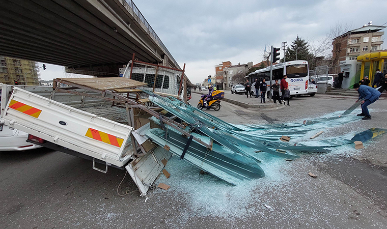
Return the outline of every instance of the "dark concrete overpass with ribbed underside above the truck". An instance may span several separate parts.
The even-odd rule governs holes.
[[[3,0],[0,30],[0,55],[67,72],[117,76],[133,53],[180,69],[131,0]]]

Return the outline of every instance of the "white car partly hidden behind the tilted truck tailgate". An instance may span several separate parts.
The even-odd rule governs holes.
[[[0,124],[0,151],[22,151],[41,146],[26,142],[28,134],[15,128]]]

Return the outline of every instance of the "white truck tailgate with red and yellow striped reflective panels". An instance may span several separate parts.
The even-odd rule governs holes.
[[[5,124],[116,166],[133,155],[133,127],[14,88],[3,113]]]

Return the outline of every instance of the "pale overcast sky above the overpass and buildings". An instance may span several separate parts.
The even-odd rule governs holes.
[[[263,50],[300,37],[317,43],[336,23],[358,28],[387,22],[387,1],[134,1],[192,82],[215,73],[215,65],[262,61]],[[385,31],[385,30],[383,30]],[[385,45],[384,45],[385,47]],[[281,51],[283,55],[283,51]],[[41,65],[41,63],[40,63]],[[47,65],[43,79],[64,77]],[[67,76],[68,77],[68,76]]]

